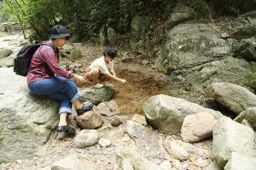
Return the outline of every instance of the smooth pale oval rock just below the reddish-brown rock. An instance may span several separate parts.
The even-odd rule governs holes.
[[[98,143],[100,136],[97,130],[82,130],[75,136],[74,144],[77,148],[87,148]]]

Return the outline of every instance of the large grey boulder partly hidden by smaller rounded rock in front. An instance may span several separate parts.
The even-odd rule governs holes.
[[[179,134],[184,118],[190,114],[207,112],[216,119],[222,117],[220,112],[168,95],[150,97],[143,110],[148,121],[164,134]]]

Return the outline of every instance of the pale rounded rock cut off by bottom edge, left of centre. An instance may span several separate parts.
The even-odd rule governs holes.
[[[63,169],[98,170],[98,167],[94,162],[90,161],[90,158],[88,158],[86,155],[72,154],[65,157],[64,159],[61,159],[53,163],[53,165],[51,166],[51,170],[63,170]]]

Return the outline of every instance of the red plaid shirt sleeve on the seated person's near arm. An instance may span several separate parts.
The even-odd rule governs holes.
[[[73,73],[69,73],[65,69],[61,69],[61,67],[59,67],[57,56],[55,55],[53,48],[45,46],[45,48],[42,49],[42,56],[44,56],[45,62],[55,75],[66,79],[71,79],[73,77]]]

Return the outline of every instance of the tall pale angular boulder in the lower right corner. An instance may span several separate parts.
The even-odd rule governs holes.
[[[213,159],[224,168],[232,152],[251,155],[255,154],[255,134],[243,124],[238,124],[230,118],[220,118],[213,131]]]

